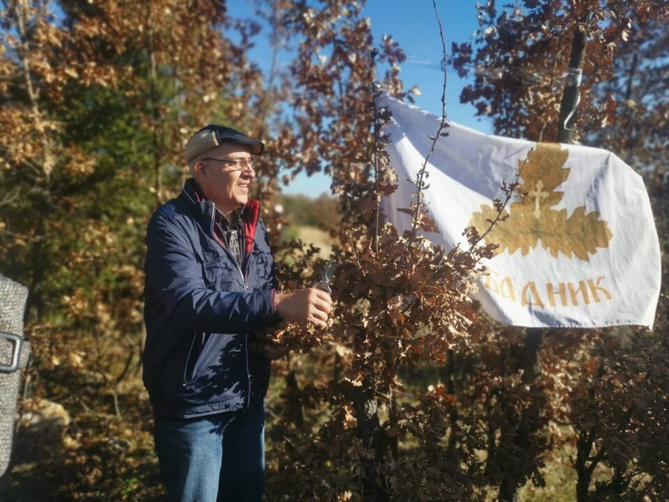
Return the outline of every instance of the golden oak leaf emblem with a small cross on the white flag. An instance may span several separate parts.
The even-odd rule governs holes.
[[[557,188],[569,177],[570,169],[564,167],[568,156],[569,151],[560,149],[559,144],[537,144],[522,168],[522,183],[517,189],[521,199],[512,203],[509,211],[502,211],[502,221],[486,235],[486,242],[498,245],[495,253],[521,250],[525,256],[541,241],[555,258],[562,252],[567,258],[574,254],[588,261],[588,253],[608,246],[613,234],[608,223],[599,220],[597,211],[586,214],[585,206],[578,206],[567,218],[566,209],[552,208],[564,196]],[[493,206],[482,204],[469,224],[482,235],[496,217]]]

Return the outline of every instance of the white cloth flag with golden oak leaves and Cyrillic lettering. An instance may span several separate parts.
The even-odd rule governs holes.
[[[399,187],[384,201],[401,233],[411,217],[397,211],[415,201],[417,171],[441,118],[382,96],[390,107],[390,163]],[[587,146],[532,143],[484,135],[450,122],[429,158],[427,209],[450,249],[467,248],[463,230],[479,234],[525,163],[519,187],[486,243],[498,244],[486,261],[477,299],[494,319],[533,327],[652,326],[660,291],[660,250],[642,178],[613,153]],[[408,179],[407,179],[408,178]]]

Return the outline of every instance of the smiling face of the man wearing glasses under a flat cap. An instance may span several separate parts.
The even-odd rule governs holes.
[[[256,175],[249,160],[247,146],[224,143],[201,155],[194,166],[195,180],[204,195],[226,215],[249,200],[249,185]],[[240,164],[235,165],[234,161]]]

